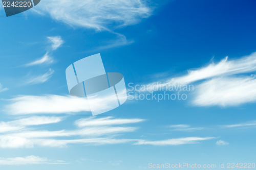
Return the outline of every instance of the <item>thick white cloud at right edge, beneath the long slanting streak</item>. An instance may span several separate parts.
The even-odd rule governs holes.
[[[256,101],[256,79],[215,78],[196,87],[194,105],[237,106]]]

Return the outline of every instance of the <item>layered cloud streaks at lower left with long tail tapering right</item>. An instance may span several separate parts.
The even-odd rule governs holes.
[[[142,140],[118,138],[121,134],[135,132],[138,127],[126,126],[145,121],[140,118],[81,118],[74,122],[74,130],[37,130],[44,125],[57,124],[65,117],[56,116],[32,116],[11,122],[0,123],[0,148],[34,148],[41,147],[67,147],[68,144],[124,144],[135,145],[181,145],[195,144],[203,140],[215,139],[215,137],[184,137],[166,140]],[[61,137],[61,139],[59,139]],[[75,137],[75,138],[74,138]]]

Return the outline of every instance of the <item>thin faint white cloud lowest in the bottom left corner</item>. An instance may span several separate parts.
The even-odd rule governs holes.
[[[1,158],[0,165],[28,165],[28,164],[67,164],[65,161],[57,160],[51,161],[47,158],[41,158],[38,156],[26,156],[15,158]]]

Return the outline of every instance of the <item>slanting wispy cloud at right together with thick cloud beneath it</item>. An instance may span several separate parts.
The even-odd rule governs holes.
[[[178,85],[196,83],[191,102],[195,106],[238,106],[256,102],[256,53],[239,59],[221,60],[207,66],[188,70],[188,74],[180,77],[167,78],[162,82],[146,84],[143,91],[169,88]]]

